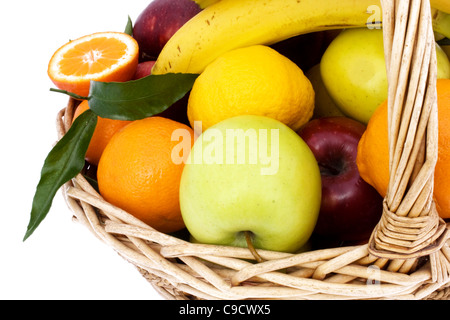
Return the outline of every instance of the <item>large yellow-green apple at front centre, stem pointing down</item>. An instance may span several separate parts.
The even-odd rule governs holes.
[[[192,241],[246,247],[250,234],[253,247],[283,252],[307,243],[321,196],[319,167],[307,144],[264,116],[237,116],[205,130],[180,182]]]

